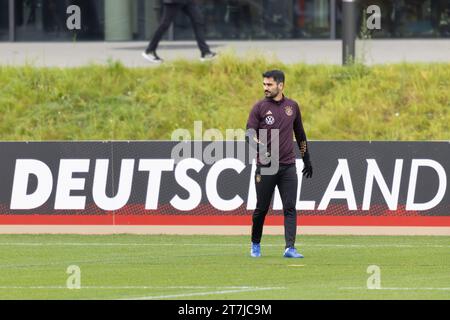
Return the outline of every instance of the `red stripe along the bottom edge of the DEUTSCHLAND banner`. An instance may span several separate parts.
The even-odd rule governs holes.
[[[2,225],[251,225],[251,215],[0,215]],[[283,225],[283,216],[267,216],[266,225]],[[298,216],[299,226],[448,227],[449,216]]]

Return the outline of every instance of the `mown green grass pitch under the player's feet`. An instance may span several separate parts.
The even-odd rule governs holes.
[[[0,299],[450,298],[450,237],[298,236],[304,259],[283,243],[255,259],[247,236],[0,235]]]

